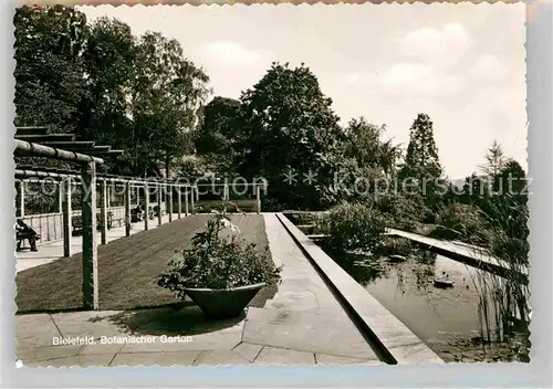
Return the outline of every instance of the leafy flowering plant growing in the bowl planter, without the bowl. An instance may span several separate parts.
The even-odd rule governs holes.
[[[274,266],[269,249],[259,253],[255,244],[248,244],[236,234],[221,238],[220,232],[226,228],[238,231],[225,211],[215,213],[206,230],[192,238],[192,246],[184,251],[182,260],[169,263],[158,285],[184,298],[186,288],[225,290],[280,282],[281,267]]]

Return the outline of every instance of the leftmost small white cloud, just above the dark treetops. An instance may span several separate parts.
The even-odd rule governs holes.
[[[209,42],[204,51],[211,60],[223,66],[250,66],[268,56],[269,52],[248,50],[238,42],[217,41]]]

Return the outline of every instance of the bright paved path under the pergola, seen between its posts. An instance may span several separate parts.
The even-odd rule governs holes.
[[[181,218],[185,218],[181,214]],[[173,221],[178,219],[178,213],[173,214]],[[161,217],[161,225],[169,222],[169,215],[165,214]],[[131,224],[131,234],[135,234],[137,232],[144,231],[144,221],[132,223]],[[148,229],[154,229],[157,227],[157,218],[154,220],[149,220]],[[101,242],[101,233],[98,232],[98,245]],[[107,242],[112,242],[116,239],[125,236],[125,225],[115,227],[111,230],[107,230],[106,240]],[[82,236],[72,236],[71,238],[72,245],[72,254],[76,254],[83,251],[83,238]],[[42,265],[44,263],[50,263],[55,260],[59,260],[63,256],[63,240],[56,240],[51,242],[44,242],[38,244],[39,251],[32,252],[29,250],[24,250],[21,252],[15,252],[15,271],[19,273],[23,270],[31,269],[34,266]]]

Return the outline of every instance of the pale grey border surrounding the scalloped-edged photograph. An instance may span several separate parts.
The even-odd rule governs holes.
[[[192,0],[194,1],[194,0]],[[526,22],[528,83],[528,154],[532,196],[529,221],[531,235],[532,350],[530,364],[474,364],[413,367],[191,367],[191,368],[42,368],[15,367],[14,295],[15,261],[12,228],[14,201],[12,159],[13,134],[13,0],[2,1],[2,143],[0,169],[2,255],[0,276],[3,278],[2,317],[2,386],[41,387],[552,387],[552,72],[553,72],[553,3],[550,0],[526,0],[534,7]],[[49,1],[53,2],[53,1]],[[197,1],[194,1],[197,2]],[[480,1],[474,1],[480,2]],[[298,3],[298,1],[294,1]],[[539,4],[538,4],[539,3]],[[323,6],[323,4],[317,4]],[[317,7],[313,6],[313,7]],[[539,6],[539,7],[536,7]],[[194,7],[194,6],[181,6]],[[69,370],[69,371],[67,371]],[[399,370],[399,371],[398,371]]]

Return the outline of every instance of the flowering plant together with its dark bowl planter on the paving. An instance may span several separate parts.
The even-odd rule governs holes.
[[[230,229],[230,236],[221,236]],[[258,292],[279,283],[281,267],[260,252],[254,243],[238,239],[238,228],[230,222],[226,208],[213,212],[205,231],[192,238],[192,246],[180,261],[171,261],[158,285],[188,295],[211,318],[239,316]]]

